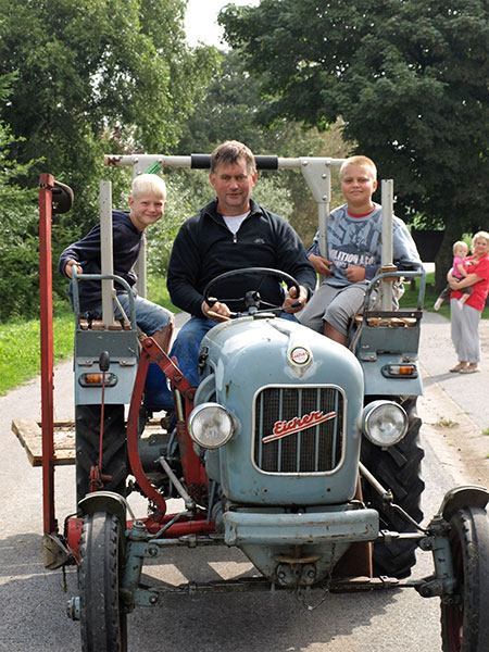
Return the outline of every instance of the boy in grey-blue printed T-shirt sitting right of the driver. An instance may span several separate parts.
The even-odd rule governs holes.
[[[347,344],[350,319],[363,306],[368,281],[381,265],[381,206],[372,200],[377,168],[367,156],[350,156],[340,167],[344,204],[331,211],[327,225],[327,259],[318,234],[308,251],[317,274],[325,277],[298,319],[313,330]],[[399,269],[421,265],[411,234],[393,217],[393,262]]]

